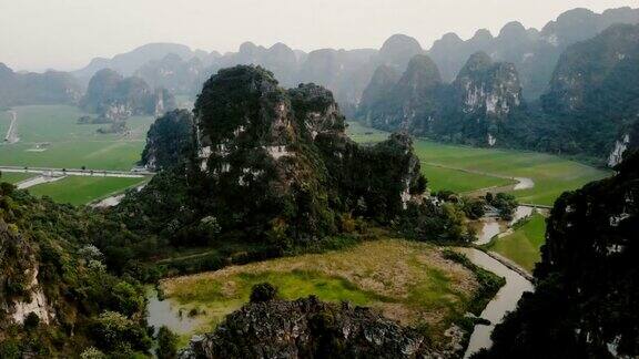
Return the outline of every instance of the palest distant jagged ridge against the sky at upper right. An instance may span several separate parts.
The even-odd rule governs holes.
[[[639,10],[619,8],[598,14],[574,9],[548,22],[541,30],[525,29],[520,23],[510,22],[495,38],[481,30],[466,41],[448,33],[435,41],[428,55],[439,66],[444,81],[453,81],[468,57],[479,51],[488,53],[494,61],[514,63],[520,75],[523,95],[532,101],[546,91],[564,50],[596,37],[615,23],[639,23]]]

